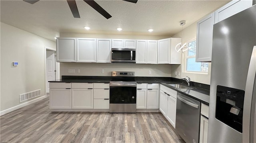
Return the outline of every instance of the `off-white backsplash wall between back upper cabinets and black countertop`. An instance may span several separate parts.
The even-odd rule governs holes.
[[[68,73],[75,69],[75,73]],[[77,70],[80,69],[80,73]],[[101,70],[104,69],[104,73]],[[151,74],[148,74],[148,71]],[[134,71],[135,76],[171,76],[171,65],[132,64],[132,63],[60,63],[60,74],[78,76],[111,76],[112,71]]]

